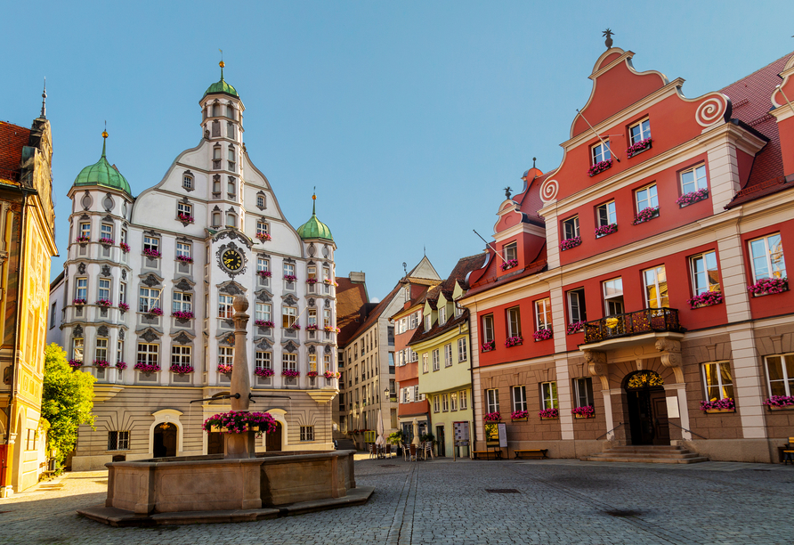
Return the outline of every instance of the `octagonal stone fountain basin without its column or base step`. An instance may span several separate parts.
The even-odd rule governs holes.
[[[111,462],[105,507],[136,515],[260,509],[344,498],[355,488],[355,451],[229,460],[185,457]]]

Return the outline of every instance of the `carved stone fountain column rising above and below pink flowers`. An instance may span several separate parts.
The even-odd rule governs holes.
[[[248,373],[246,330],[250,316],[248,300],[243,295],[234,297],[234,362],[231,366],[231,410],[248,412],[251,403],[251,377]],[[255,432],[242,434],[223,434],[223,458],[240,459],[255,458]]]

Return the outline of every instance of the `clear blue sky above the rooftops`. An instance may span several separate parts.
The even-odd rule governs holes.
[[[218,77],[288,220],[318,216],[337,273],[384,297],[402,263],[442,276],[490,240],[507,185],[562,158],[587,76],[615,45],[694,97],[794,51],[790,2],[24,2],[4,6],[0,119],[29,126],[47,77],[57,243],[66,193],[101,153],[137,195],[201,136]],[[750,12],[748,12],[750,10]],[[53,278],[63,258],[53,261]]]

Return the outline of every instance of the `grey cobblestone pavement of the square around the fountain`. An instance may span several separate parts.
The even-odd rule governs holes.
[[[0,543],[790,543],[794,468],[705,462],[359,460],[366,505],[236,525],[112,528],[107,471],[0,500]],[[62,486],[61,486],[62,485]],[[488,492],[491,491],[491,492]]]

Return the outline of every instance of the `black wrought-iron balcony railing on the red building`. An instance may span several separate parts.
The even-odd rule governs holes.
[[[615,314],[585,323],[585,343],[599,343],[611,338],[632,337],[653,331],[683,333],[675,308],[646,308],[635,313]]]

